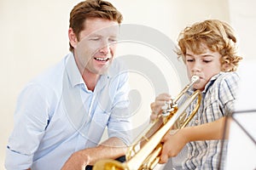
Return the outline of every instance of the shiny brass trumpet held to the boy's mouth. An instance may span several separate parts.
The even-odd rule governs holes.
[[[175,99],[166,103],[162,108],[162,114],[142,133],[134,144],[132,144],[126,153],[126,161],[119,162],[111,159],[97,161],[93,170],[152,170],[160,161],[160,152],[162,150],[161,139],[171,129],[176,130],[186,127],[195,116],[201,105],[201,92],[196,90],[194,94],[187,94],[189,88],[199,77],[191,77],[189,84],[183,88],[182,92]],[[177,103],[183,95],[188,95],[181,103]],[[195,101],[195,102],[194,102]],[[195,109],[189,114],[187,108],[195,103]],[[178,105],[177,105],[178,104]]]

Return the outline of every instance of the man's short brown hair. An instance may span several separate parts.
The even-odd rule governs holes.
[[[117,21],[119,24],[123,20],[122,14],[113,7],[113,4],[102,0],[86,0],[78,3],[70,12],[69,27],[73,29],[76,37],[80,31],[84,30],[84,21],[87,18],[102,18]],[[69,50],[73,51],[69,43]]]

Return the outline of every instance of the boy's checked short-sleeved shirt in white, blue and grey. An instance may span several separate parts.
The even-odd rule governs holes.
[[[220,72],[212,77],[202,91],[201,106],[188,126],[213,122],[234,111],[238,81],[236,72]],[[189,111],[192,111],[194,106],[191,105]],[[189,142],[183,169],[224,169],[227,142],[227,140]]]

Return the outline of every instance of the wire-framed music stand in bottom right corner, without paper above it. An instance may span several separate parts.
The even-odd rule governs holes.
[[[256,110],[231,116],[226,170],[256,169]]]

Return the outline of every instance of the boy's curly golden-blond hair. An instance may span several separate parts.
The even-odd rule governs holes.
[[[222,55],[222,71],[236,71],[242,58],[237,55],[236,36],[230,25],[220,20],[205,20],[186,27],[178,37],[176,53],[185,62],[187,49],[194,54],[204,52],[201,44]]]

